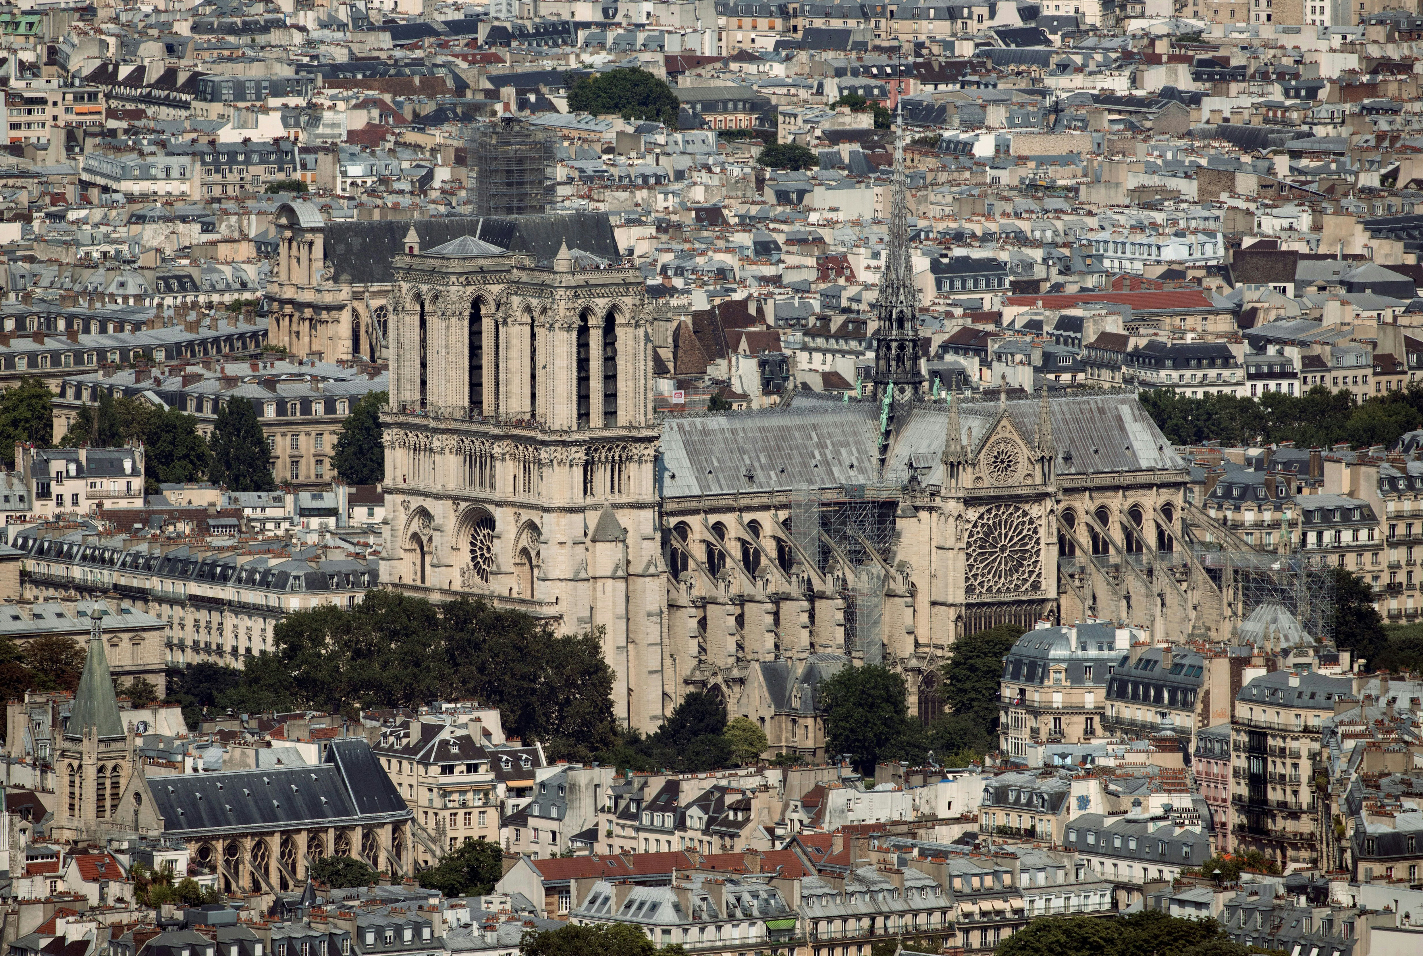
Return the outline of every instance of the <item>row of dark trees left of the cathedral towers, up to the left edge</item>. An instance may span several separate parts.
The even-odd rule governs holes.
[[[53,394],[38,378],[0,393],[0,457],[14,467],[17,441],[47,448],[53,434]],[[343,423],[332,464],[349,484],[381,479],[386,451],[380,435],[380,407],[386,393],[363,397]],[[211,438],[198,432],[198,420],[147,398],[100,394],[98,404],[84,405],[60,440],[65,448],[88,445],[115,448],[144,445],[145,494],[158,494],[166,482],[211,481],[229,491],[270,491],[270,448],[256,410],[249,401],[219,405]]]

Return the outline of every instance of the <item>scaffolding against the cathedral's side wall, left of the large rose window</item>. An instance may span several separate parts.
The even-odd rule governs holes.
[[[884,663],[885,568],[894,555],[899,485],[791,492],[790,535],[841,600],[844,653]]]

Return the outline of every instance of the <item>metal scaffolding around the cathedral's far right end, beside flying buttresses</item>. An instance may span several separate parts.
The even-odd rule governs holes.
[[[1215,582],[1237,626],[1258,607],[1278,605],[1315,640],[1335,639],[1335,572],[1312,555],[1271,555],[1195,545],[1197,561]]]

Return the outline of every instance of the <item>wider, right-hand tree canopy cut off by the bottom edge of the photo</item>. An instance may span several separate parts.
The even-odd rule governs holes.
[[[1121,919],[1044,916],[999,943],[995,956],[1248,956],[1214,919],[1154,909]]]

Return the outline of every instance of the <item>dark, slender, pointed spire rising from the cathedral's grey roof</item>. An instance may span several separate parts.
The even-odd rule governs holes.
[[[894,179],[889,192],[889,238],[885,243],[885,266],[875,300],[875,398],[894,391],[895,400],[905,400],[924,390],[919,363],[918,307],[914,286],[914,263],[909,255],[909,196],[904,175],[904,104],[894,134]]]

